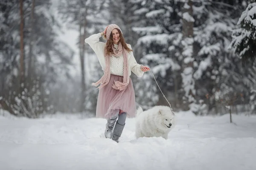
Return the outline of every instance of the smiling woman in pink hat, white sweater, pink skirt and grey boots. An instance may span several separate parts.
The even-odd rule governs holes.
[[[106,43],[99,42],[101,36],[107,40]],[[93,34],[84,41],[96,53],[104,71],[102,78],[92,84],[100,85],[96,117],[108,120],[105,137],[119,142],[126,117],[134,117],[136,114],[131,71],[137,77],[142,77],[150,69],[136,62],[131,45],[125,43],[122,31],[116,24],[107,26],[103,32]]]

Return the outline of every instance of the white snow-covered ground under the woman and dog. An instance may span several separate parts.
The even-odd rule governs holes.
[[[233,115],[235,125],[229,115],[176,115],[168,140],[135,139],[134,119],[127,119],[116,143],[103,137],[105,119],[5,114],[0,116],[0,170],[256,169],[256,116]]]

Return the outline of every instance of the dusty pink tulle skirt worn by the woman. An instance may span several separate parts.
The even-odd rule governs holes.
[[[127,88],[123,91],[112,88],[114,80],[122,82],[123,77],[111,74],[108,85],[99,89],[96,117],[109,119],[119,113],[120,110],[122,112],[126,112],[127,117],[134,117],[136,115],[137,108],[131,78]]]

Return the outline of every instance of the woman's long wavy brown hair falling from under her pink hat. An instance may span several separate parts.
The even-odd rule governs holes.
[[[117,28],[115,28],[117,29]],[[125,48],[125,50],[127,52],[130,52],[132,51],[130,48],[128,48],[127,44],[125,43],[125,39],[124,37],[122,36],[122,33],[119,29],[117,29],[117,31],[119,32],[119,43],[121,42],[123,48]],[[110,34],[110,37],[109,37],[109,40],[106,42],[106,46],[105,46],[105,55],[108,54],[109,56],[111,56],[113,54],[113,48],[112,48],[112,45],[113,45],[113,35],[112,35],[112,32]]]

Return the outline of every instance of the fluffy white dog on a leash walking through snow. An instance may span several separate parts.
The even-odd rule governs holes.
[[[137,110],[136,116],[136,138],[139,137],[160,137],[168,139],[168,133],[175,126],[175,115],[168,106],[154,106],[143,111],[141,107]]]

